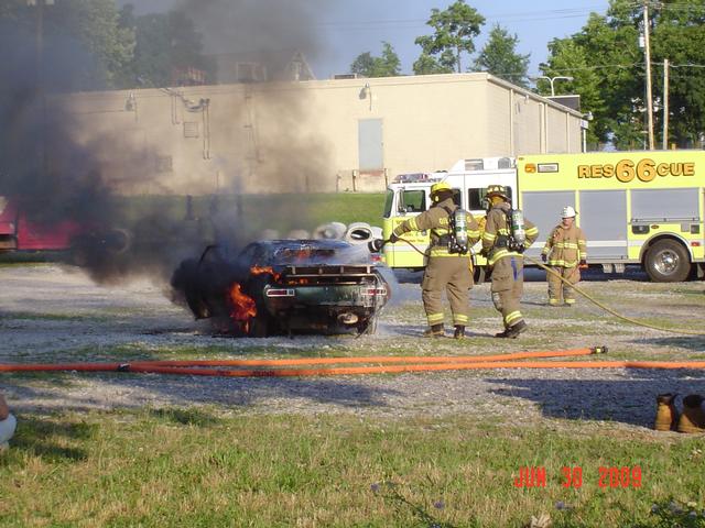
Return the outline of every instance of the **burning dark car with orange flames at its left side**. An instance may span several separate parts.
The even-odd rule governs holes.
[[[373,333],[390,297],[381,265],[344,241],[270,240],[228,253],[210,245],[182,262],[172,287],[196,319],[236,336]]]

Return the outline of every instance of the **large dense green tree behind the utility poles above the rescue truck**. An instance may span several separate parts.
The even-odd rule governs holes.
[[[641,148],[646,131],[646,67],[639,47],[643,11],[640,2],[610,0],[605,16],[592,14],[573,36],[554,41],[541,68],[545,75],[574,77],[583,110],[595,116],[594,138],[618,148]],[[705,11],[701,0],[668,0],[650,9],[654,132],[661,134],[664,58],[674,65],[670,82],[670,138],[693,146],[705,133]],[[594,130],[593,130],[594,129]]]

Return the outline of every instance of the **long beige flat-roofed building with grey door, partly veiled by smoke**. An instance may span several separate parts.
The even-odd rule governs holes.
[[[579,112],[482,73],[91,92],[48,103],[126,193],[382,190],[397,174],[464,157],[582,146]]]

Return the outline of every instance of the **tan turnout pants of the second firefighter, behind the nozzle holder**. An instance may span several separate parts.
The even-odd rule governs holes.
[[[524,260],[505,256],[492,266],[492,302],[502,315],[505,328],[523,320],[520,311],[521,295],[524,290]]]

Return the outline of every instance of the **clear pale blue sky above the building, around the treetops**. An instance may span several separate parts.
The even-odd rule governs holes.
[[[169,9],[182,0],[118,0],[118,3],[128,1],[135,4],[138,12],[144,13]],[[236,4],[248,0],[230,1]],[[291,1],[305,4],[314,0]],[[412,65],[421,52],[414,44],[415,37],[431,34],[425,22],[433,8],[443,10],[451,3],[453,0],[327,0],[310,26],[310,31],[321,38],[319,53],[308,56],[315,76],[326,79],[348,73],[359,54],[381,55],[382,41],[389,42],[401,58],[402,73],[413,73]],[[590,12],[605,14],[609,1],[467,0],[467,3],[486,18],[482,32],[475,41],[477,51],[481,50],[492,26],[499,23],[519,37],[518,52],[530,54],[531,76],[540,75],[539,64],[545,61],[551,40],[578,32]],[[466,55],[463,61],[465,68],[470,57]]]

